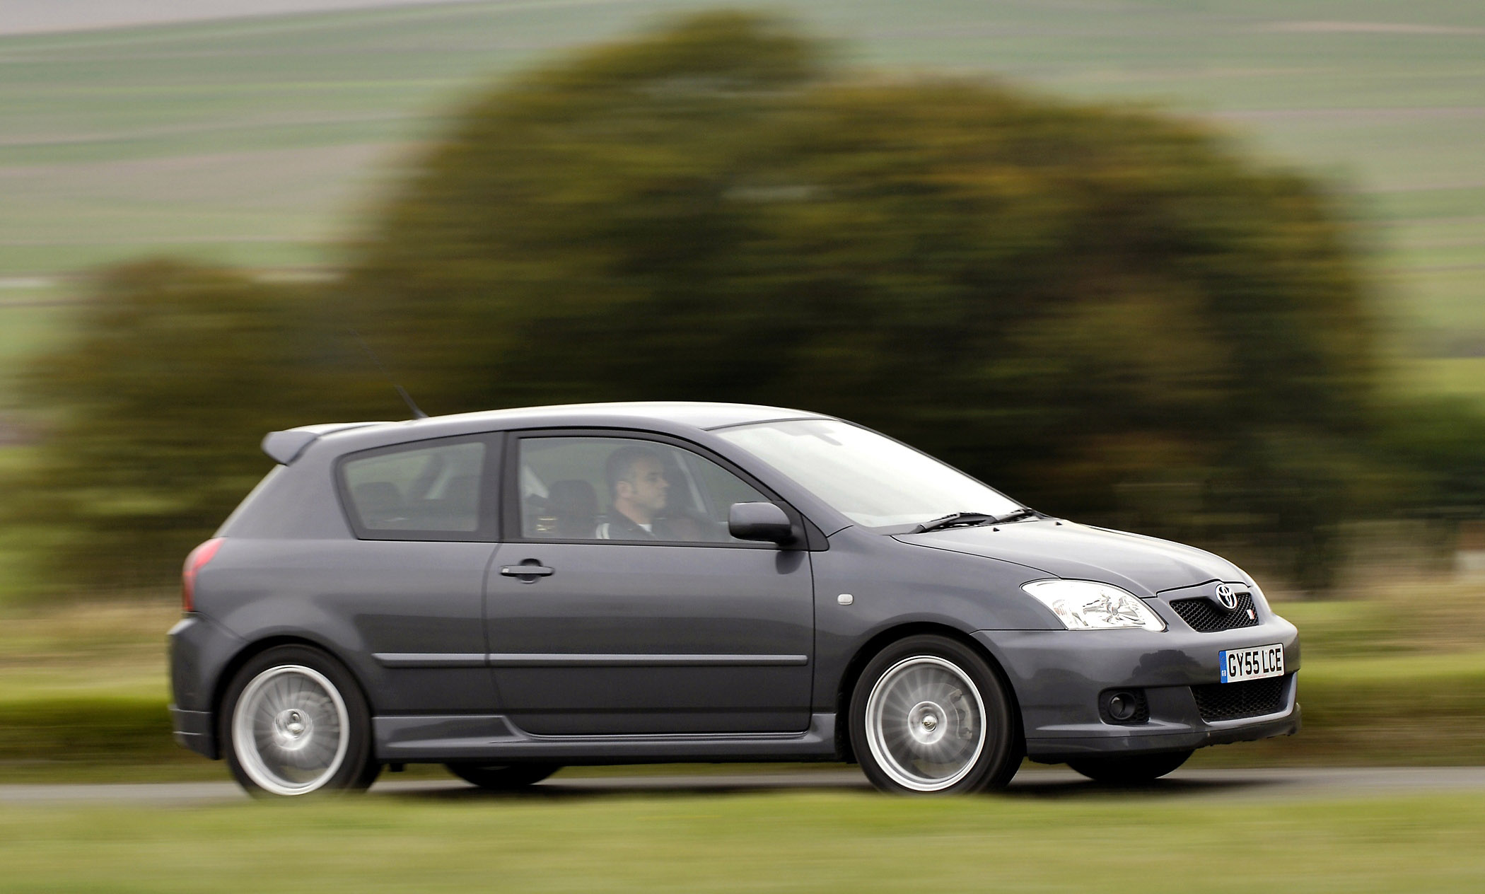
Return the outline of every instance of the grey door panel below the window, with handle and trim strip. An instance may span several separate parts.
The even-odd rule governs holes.
[[[486,636],[500,707],[538,735],[802,732],[814,652],[809,555],[502,545],[502,569],[529,561],[554,573],[490,575]]]

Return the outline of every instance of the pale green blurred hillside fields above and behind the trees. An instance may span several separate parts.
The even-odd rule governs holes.
[[[460,97],[717,4],[462,3],[0,39],[0,278],[150,252],[333,266]],[[1485,6],[783,7],[851,62],[1146,102],[1317,172],[1374,221],[1380,300],[1409,353],[1485,350]],[[31,327],[24,316],[0,294],[0,331]]]

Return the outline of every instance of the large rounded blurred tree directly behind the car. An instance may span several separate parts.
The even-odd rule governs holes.
[[[1323,585],[1384,478],[1350,242],[1195,125],[858,76],[710,13],[472,102],[334,304],[435,413],[838,413],[1053,512],[1264,535]]]

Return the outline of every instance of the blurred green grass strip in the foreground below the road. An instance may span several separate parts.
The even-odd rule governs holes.
[[[463,793],[457,793],[463,795]],[[0,891],[1478,891],[1478,795],[0,808]]]

